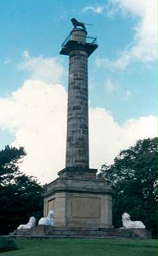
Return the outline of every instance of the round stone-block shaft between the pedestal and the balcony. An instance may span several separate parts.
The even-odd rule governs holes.
[[[88,53],[83,49],[70,51],[66,167],[89,168]]]

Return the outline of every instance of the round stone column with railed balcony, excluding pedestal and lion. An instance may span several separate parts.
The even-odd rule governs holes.
[[[88,42],[87,42],[88,40]],[[70,56],[66,168],[88,170],[88,56],[98,47],[85,29],[74,28],[60,54]]]

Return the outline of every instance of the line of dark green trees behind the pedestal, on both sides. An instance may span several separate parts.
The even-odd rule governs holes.
[[[112,218],[115,228],[122,227],[123,212],[141,220],[157,237],[157,145],[158,138],[137,141],[121,151],[114,163],[103,164],[98,178],[112,186]],[[8,234],[30,216],[43,216],[44,187],[33,176],[19,171],[26,155],[23,147],[0,151],[0,235]]]

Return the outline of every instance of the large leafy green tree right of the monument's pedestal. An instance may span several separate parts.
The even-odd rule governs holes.
[[[99,176],[113,190],[114,227],[122,226],[121,215],[128,212],[157,236],[157,143],[157,137],[139,140],[121,151],[114,164],[102,165]]]

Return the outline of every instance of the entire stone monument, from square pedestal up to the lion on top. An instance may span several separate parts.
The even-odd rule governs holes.
[[[69,56],[66,167],[46,185],[44,215],[54,210],[56,229],[111,229],[111,188],[106,179],[96,177],[96,169],[89,168],[88,57],[98,45],[96,37],[87,36],[84,23],[76,19],[72,23],[60,51]]]

